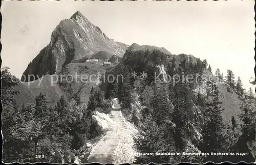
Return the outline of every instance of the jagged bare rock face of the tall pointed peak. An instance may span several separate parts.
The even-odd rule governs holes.
[[[58,73],[63,65],[98,51],[122,57],[127,47],[109,39],[98,26],[77,11],[70,19],[60,21],[51,35],[50,43],[39,52],[23,74],[27,81],[29,74],[41,77]]]

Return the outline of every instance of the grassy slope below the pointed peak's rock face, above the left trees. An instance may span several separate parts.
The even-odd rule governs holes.
[[[102,66],[101,63],[71,63],[65,66],[62,69],[62,75],[71,74],[75,77],[75,73],[79,76],[77,77],[78,82],[71,82],[70,84],[66,84],[67,87],[71,88],[71,91],[67,91],[66,87],[60,87],[56,82],[51,84],[51,75],[45,75],[42,78],[42,81],[39,83],[39,79],[34,82],[24,82],[16,86],[15,88],[20,92],[17,95],[14,95],[15,100],[18,105],[33,103],[35,97],[40,93],[45,94],[47,100],[50,101],[50,105],[54,106],[61,95],[64,95],[67,100],[72,97],[81,97],[81,101],[83,103],[88,102],[89,94],[92,87],[97,87],[98,83],[94,82],[98,79],[96,76],[92,76],[91,80],[93,82],[83,83],[80,80],[80,76],[82,74],[88,75],[88,77],[92,74],[97,75],[97,73],[103,73],[104,70],[110,69],[114,67],[114,65],[110,66]],[[55,77],[54,77],[55,78]],[[53,78],[53,79],[54,79]]]

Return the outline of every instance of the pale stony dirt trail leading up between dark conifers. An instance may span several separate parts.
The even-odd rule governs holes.
[[[88,162],[118,164],[134,160],[133,136],[137,130],[124,119],[118,104],[114,103],[112,107],[113,126],[93,147]]]

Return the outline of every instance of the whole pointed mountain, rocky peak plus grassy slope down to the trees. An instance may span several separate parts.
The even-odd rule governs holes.
[[[78,98],[81,95],[82,102],[88,101],[90,89],[97,86],[98,73],[111,66],[101,66],[98,64],[85,63],[87,59],[100,59],[107,61],[116,56],[121,59],[128,45],[115,42],[109,39],[98,26],[92,24],[79,11],[74,13],[70,19],[62,20],[55,28],[51,36],[50,43],[42,49],[24,71],[22,81],[17,88],[20,93],[15,95],[18,103],[31,103],[41,92],[47,99],[51,100],[51,105],[64,95],[69,101],[71,98]],[[56,73],[56,75],[54,75]],[[35,81],[31,76],[28,82],[28,75],[35,75]],[[77,79],[83,76],[91,76],[91,81],[82,82],[60,82],[57,77],[71,75]],[[25,79],[26,78],[26,79]],[[51,85],[51,79],[54,79]],[[79,96],[78,96],[79,95]]]

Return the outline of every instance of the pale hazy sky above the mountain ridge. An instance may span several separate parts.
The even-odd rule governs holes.
[[[206,59],[213,72],[231,69],[245,88],[254,76],[253,1],[4,1],[2,66],[20,77],[50,42],[60,20],[79,10],[111,39],[165,47]]]

